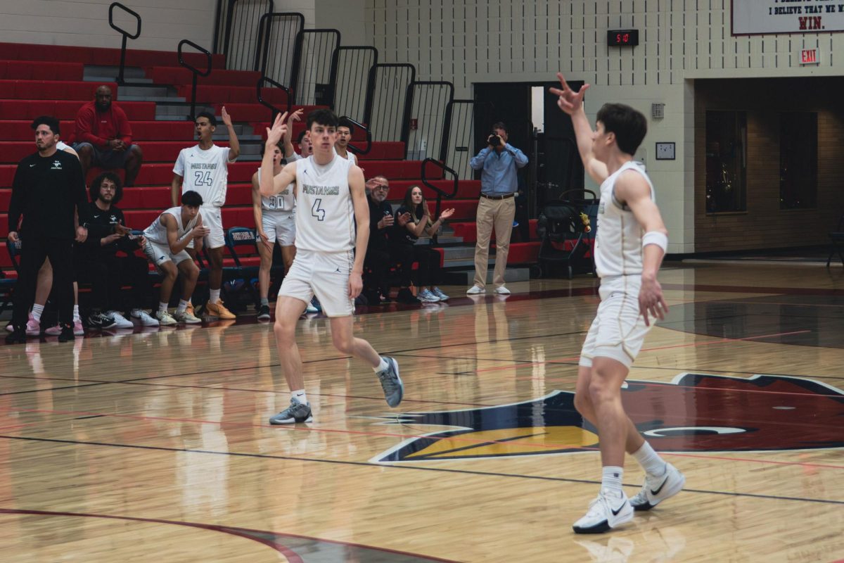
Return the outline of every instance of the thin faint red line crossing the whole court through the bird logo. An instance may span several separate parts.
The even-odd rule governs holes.
[[[117,419],[129,419],[129,420],[160,420],[165,422],[190,422],[195,424],[207,424],[207,425],[226,425],[228,427],[232,426],[243,426],[245,428],[273,428],[277,430],[289,430],[289,431],[308,431],[308,432],[325,432],[328,434],[345,434],[345,435],[352,435],[352,436],[378,436],[378,437],[390,437],[390,438],[400,438],[402,440],[410,440],[410,439],[424,439],[424,438],[431,438],[431,436],[425,435],[405,435],[405,434],[397,434],[394,432],[370,432],[370,431],[362,431],[362,430],[339,430],[333,428],[313,428],[308,426],[278,426],[278,425],[255,425],[249,422],[225,422],[219,420],[202,420],[202,419],[180,419],[180,418],[173,418],[173,417],[164,417],[164,416],[143,416],[139,414],[111,414],[111,413],[94,413],[94,412],[86,412],[86,411],[60,411],[60,410],[48,410],[48,409],[19,409],[19,410],[5,410],[4,413],[39,413],[39,414],[66,414],[66,415],[84,415],[84,416],[102,416],[102,417],[113,417]],[[397,414],[397,417],[401,416],[401,414]],[[45,421],[46,422],[46,421]],[[55,424],[55,421],[51,421],[52,424]],[[409,426],[407,426],[409,427]],[[448,430],[443,430],[448,431]],[[22,436],[25,437],[25,436]],[[509,445],[511,441],[497,441],[497,440],[479,440],[475,438],[464,438],[461,436],[448,436],[448,439],[451,441],[462,441],[468,444],[504,444]],[[536,447],[539,449],[545,450],[558,450],[558,449],[569,449],[569,450],[579,450],[582,452],[599,452],[600,449],[597,447],[582,447],[582,446],[572,446],[570,444],[527,444],[529,447]],[[781,461],[773,461],[773,460],[766,460],[766,459],[751,459],[748,457],[727,457],[727,456],[710,456],[710,455],[702,455],[697,453],[685,453],[685,452],[659,452],[661,455],[665,456],[674,456],[674,457],[692,457],[697,459],[718,459],[724,461],[733,461],[733,462],[745,462],[745,463],[762,463],[767,465],[776,465],[776,466],[796,466],[796,467],[806,467],[806,468],[825,468],[825,469],[844,469],[844,465],[832,465],[829,463],[803,463],[803,462],[781,462]]]

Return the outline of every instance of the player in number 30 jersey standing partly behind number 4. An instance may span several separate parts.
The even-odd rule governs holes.
[[[288,120],[289,125],[289,120]],[[281,172],[282,149],[273,147],[273,176]],[[295,203],[292,187],[270,198],[264,198],[260,189],[261,169],[252,175],[252,209],[258,231],[258,254],[261,266],[258,268],[258,292],[261,306],[258,308],[258,320],[269,320],[269,273],[273,266],[273,247],[278,242],[284,259],[284,272],[290,271],[296,255]]]

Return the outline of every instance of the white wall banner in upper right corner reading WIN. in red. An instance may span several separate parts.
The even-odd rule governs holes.
[[[733,0],[733,35],[844,31],[844,0]]]

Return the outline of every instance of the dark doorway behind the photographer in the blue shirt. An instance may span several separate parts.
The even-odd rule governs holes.
[[[582,82],[570,82],[579,89]],[[495,122],[509,128],[509,143],[527,154],[528,164],[519,171],[522,191],[520,208],[530,218],[549,200],[571,189],[583,189],[583,165],[577,153],[571,117],[557,107],[557,98],[548,89],[559,82],[476,83],[474,84],[474,154],[484,148]],[[544,91],[544,132],[535,132],[539,125],[531,121],[531,89]],[[476,178],[480,178],[476,174]],[[519,221],[522,225],[522,220]],[[527,221],[524,221],[527,224]],[[527,235],[527,225],[522,235]]]

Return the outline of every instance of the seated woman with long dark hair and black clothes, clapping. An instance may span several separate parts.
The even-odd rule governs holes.
[[[440,253],[430,246],[417,245],[416,241],[424,234],[435,235],[445,220],[453,214],[453,208],[444,209],[436,221],[431,221],[430,210],[425,196],[422,195],[422,188],[408,187],[402,206],[396,210],[395,225],[390,237],[391,258],[401,264],[402,287],[398,290],[397,297],[400,302],[436,303],[448,299],[448,295],[436,287],[436,284],[441,283],[442,277]],[[415,298],[409,289],[414,262],[419,263],[415,276],[418,288]]]

